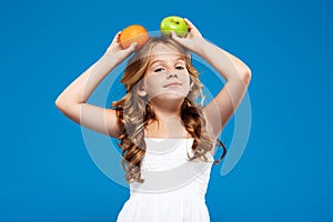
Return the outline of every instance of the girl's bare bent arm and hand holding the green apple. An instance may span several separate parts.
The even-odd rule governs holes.
[[[216,138],[241,103],[250,84],[251,70],[236,57],[204,40],[199,30],[184,20],[189,27],[188,36],[179,38],[173,32],[172,38],[206,60],[226,80],[218,95],[203,108],[208,131]]]

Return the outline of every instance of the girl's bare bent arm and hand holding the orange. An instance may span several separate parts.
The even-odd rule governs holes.
[[[107,52],[70,83],[56,100],[57,108],[69,119],[113,138],[118,138],[120,133],[115,111],[89,104],[87,101],[108,73],[135,50],[137,43],[121,49],[120,33],[115,34]]]

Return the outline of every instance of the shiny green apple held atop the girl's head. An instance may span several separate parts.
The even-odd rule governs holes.
[[[171,31],[175,31],[176,36],[185,37],[188,33],[188,24],[181,17],[167,17],[161,21],[160,30],[164,36],[170,36]]]

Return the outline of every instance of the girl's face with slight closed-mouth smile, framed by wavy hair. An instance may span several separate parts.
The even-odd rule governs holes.
[[[162,43],[153,48],[142,88],[150,101],[180,100],[188,95],[190,74],[176,49]]]

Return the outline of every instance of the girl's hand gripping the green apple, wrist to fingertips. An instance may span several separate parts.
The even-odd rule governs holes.
[[[189,50],[196,52],[200,47],[200,41],[203,39],[202,34],[190,20],[184,18],[184,21],[186,22],[189,28],[189,33],[186,34],[186,37],[178,37],[174,31],[171,31],[171,38]]]

